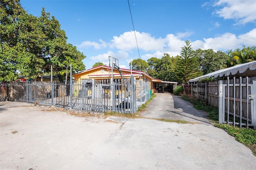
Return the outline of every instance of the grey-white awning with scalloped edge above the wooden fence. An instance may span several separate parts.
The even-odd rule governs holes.
[[[252,61],[250,63],[238,64],[230,68],[224,68],[222,70],[211,72],[204,76],[193,78],[188,82],[190,83],[198,82],[200,79],[204,79],[204,78],[223,77],[223,76],[242,76],[242,77],[256,76],[256,61]]]

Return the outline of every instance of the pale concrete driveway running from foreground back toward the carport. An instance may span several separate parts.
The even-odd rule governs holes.
[[[248,148],[207,123],[205,113],[193,115],[192,106],[176,97],[157,94],[142,115],[194,124],[76,117],[48,107],[0,102],[0,169],[256,169]]]

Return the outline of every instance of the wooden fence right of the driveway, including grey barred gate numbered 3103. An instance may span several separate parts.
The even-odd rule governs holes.
[[[256,127],[256,76],[185,84],[184,92],[219,109],[219,123]]]

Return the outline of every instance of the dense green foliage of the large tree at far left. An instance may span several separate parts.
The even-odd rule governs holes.
[[[50,13],[42,8],[41,16],[28,14],[19,0],[1,1],[0,7],[0,81],[15,80],[18,74],[26,78],[50,72],[61,80],[64,73],[84,70],[86,56],[66,42],[65,31]],[[4,4],[4,5],[3,5]]]

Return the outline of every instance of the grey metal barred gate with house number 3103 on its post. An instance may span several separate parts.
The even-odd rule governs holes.
[[[219,123],[256,128],[256,80],[227,77],[219,81]]]

